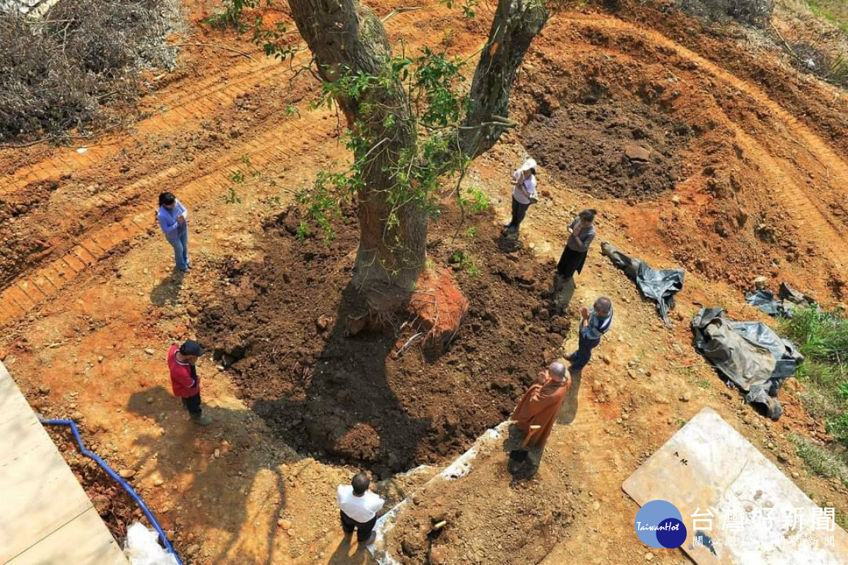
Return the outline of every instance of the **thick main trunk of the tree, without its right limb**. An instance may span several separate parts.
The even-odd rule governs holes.
[[[385,74],[391,48],[385,28],[371,8],[356,0],[290,0],[289,4],[324,80],[337,80],[342,69],[369,76]],[[398,162],[404,148],[416,143],[415,121],[404,88],[398,77],[392,78],[386,87],[371,87],[358,99],[336,102],[349,126],[365,129],[374,143],[354,155],[354,159],[361,158],[371,151],[361,172],[364,185],[357,195],[360,248],[354,283],[360,288],[409,290],[427,259],[427,212],[415,201],[393,208],[387,198],[394,181],[384,169]],[[389,116],[393,120],[387,121]],[[392,214],[397,222],[389,225]]]

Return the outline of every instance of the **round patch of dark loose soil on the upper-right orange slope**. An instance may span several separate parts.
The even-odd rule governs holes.
[[[690,129],[628,98],[570,103],[524,128],[540,165],[599,198],[650,199],[674,188]]]

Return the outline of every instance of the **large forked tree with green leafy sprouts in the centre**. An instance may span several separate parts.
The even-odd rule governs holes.
[[[393,58],[371,8],[358,0],[288,1],[326,92],[343,110],[355,140],[349,143],[354,152],[349,178],[359,202],[361,237],[354,282],[360,288],[409,290],[426,262],[435,179],[466,166],[514,126],[507,119],[510,90],[548,10],[542,0],[499,0],[467,100],[459,106],[449,100],[441,113],[421,116],[403,80],[408,69]],[[429,52],[427,57],[419,62],[435,57],[444,69],[446,59]],[[443,75],[433,79],[434,74],[419,73],[416,81],[441,80]],[[445,114],[457,108],[465,110],[464,117],[439,129],[436,122],[448,124]],[[429,137],[427,143],[422,136]]]

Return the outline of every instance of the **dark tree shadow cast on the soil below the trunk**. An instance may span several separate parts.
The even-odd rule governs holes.
[[[387,478],[413,466],[432,423],[411,416],[393,386],[415,386],[423,400],[433,383],[422,374],[423,359],[393,363],[388,374],[387,361],[398,340],[391,324],[348,335],[346,321],[371,320],[363,303],[364,296],[349,283],[332,328],[322,336],[323,349],[298,383],[299,394],[257,400],[252,407],[288,444],[322,450],[330,462],[365,467]]]

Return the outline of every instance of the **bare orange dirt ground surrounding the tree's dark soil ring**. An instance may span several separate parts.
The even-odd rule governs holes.
[[[377,6],[381,14],[392,8]],[[821,422],[806,417],[790,390],[783,393],[789,405],[780,422],[739,408],[739,397],[695,355],[688,328],[699,303],[759,319],[741,305],[740,291],[761,274],[774,286],[785,279],[823,301],[845,301],[845,94],[799,78],[776,56],[751,54],[738,38],[698,33],[694,20],[659,14],[650,7],[620,17],[589,10],[551,20],[517,86],[513,115],[527,126],[478,159],[468,181],[490,193],[496,214],[505,217],[505,175],[538,142],[531,152],[541,163],[546,197],[528,216],[521,261],[530,261],[532,252],[538,262],[533,271],[550,268],[544,265],[559,255],[566,223],[594,207],[600,210],[599,239],[652,265],[687,267],[678,300],[683,319],[669,331],[598,247],[590,254],[575,305],[608,294],[618,317],[599,352],[609,364],[599,358],[587,368],[572,399],[576,417],[566,418],[551,437],[543,467],[555,462],[564,473],[540,474],[541,480],[567,481],[574,497],[570,512],[579,523],[557,523],[550,563],[643,559],[644,545],[632,530],[637,508],[620,485],[702,406],[716,409],[767,456],[785,452],[779,465],[798,473],[805,492],[848,512],[844,486],[807,475],[785,437],[793,432],[827,440]],[[204,15],[196,6],[192,20]],[[469,23],[428,7],[399,14],[388,27],[408,46],[429,44],[468,56],[488,30],[488,16],[481,16]],[[198,27],[198,33],[198,41],[234,41],[218,31]],[[265,260],[265,221],[281,213],[293,189],[315,171],[346,159],[336,116],[309,109],[314,79],[302,74],[289,81],[281,65],[251,53],[252,59],[202,48],[187,53],[183,74],[161,79],[161,91],[144,100],[150,116],[135,131],[103,138],[84,152],[3,150],[0,355],[34,406],[47,416],[80,420],[92,448],[115,466],[137,471],[134,483],[188,562],[365,562],[361,551],[347,555],[354,548],[340,545],[336,524],[335,484],[348,480],[353,468],[319,461],[326,453],[305,436],[290,441],[275,434],[238,383],[251,372],[236,378],[201,362],[204,400],[216,421],[209,429],[190,428],[168,390],[165,351],[194,335],[207,307],[222,299],[220,267],[228,257]],[[288,106],[298,111],[287,113]],[[594,115],[587,116],[588,109]],[[632,115],[648,123],[635,123]],[[555,128],[544,128],[546,120],[558,124],[563,116],[579,118],[575,134],[586,143],[604,140],[600,154],[583,155],[583,171],[555,165],[571,163],[563,160],[570,155],[550,149],[559,148],[551,137]],[[598,116],[607,121],[596,120],[599,129],[592,131],[589,120]],[[675,143],[661,143],[678,127],[683,134]],[[566,147],[580,142],[569,139]],[[677,179],[621,199],[614,191],[600,193],[600,177],[593,178],[590,167],[606,166],[605,176],[611,165],[628,178],[645,174],[629,169],[633,163],[611,160],[628,143],[666,152],[662,159],[679,164]],[[233,182],[234,171],[245,180]],[[633,181],[639,186],[644,183]],[[172,277],[170,248],[156,232],[153,205],[162,190],[173,190],[192,211],[196,268],[187,277]],[[233,194],[241,202],[227,204]],[[481,229],[477,237],[495,238],[493,233]],[[494,245],[460,241],[471,255],[485,254],[481,265],[502,259]],[[353,250],[334,249],[339,264]],[[470,290],[475,282],[468,277],[466,284]],[[299,307],[281,305],[279,316],[300,319],[290,313]],[[539,324],[532,322],[537,315],[529,312],[527,326]],[[457,346],[462,344],[460,336]],[[450,413],[448,403],[443,410]],[[451,440],[448,453],[455,454],[471,438]],[[505,462],[505,454],[493,456]],[[491,472],[479,473],[467,492],[492,496],[516,488],[505,483],[499,463],[488,462]],[[398,498],[415,484],[390,486]],[[480,521],[491,507],[480,506]],[[291,526],[284,529],[289,524],[278,520]],[[502,533],[510,540],[544,536],[521,521],[497,523],[516,529]],[[481,545],[486,530],[472,526],[451,534],[475,550],[455,554],[458,562],[473,562]],[[482,562],[538,561],[530,550],[508,556],[491,551]],[[667,551],[655,559],[680,562],[683,554]]]

